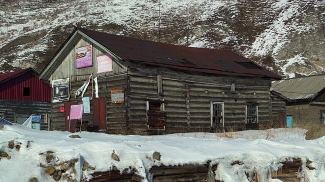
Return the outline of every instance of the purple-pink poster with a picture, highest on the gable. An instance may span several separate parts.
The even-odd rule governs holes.
[[[92,66],[92,45],[76,48],[77,69]]]

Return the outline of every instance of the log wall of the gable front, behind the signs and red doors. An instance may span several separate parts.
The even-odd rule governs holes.
[[[89,76],[85,76],[84,79],[78,81],[72,81],[71,90],[77,90],[82,86],[84,81]],[[126,103],[122,104],[112,104],[111,100],[111,90],[124,88],[124,92],[127,92],[127,87],[125,86],[127,82],[126,74],[117,74],[113,76],[105,76],[98,78],[99,85],[99,97],[106,98],[106,126],[107,130],[104,132],[107,133],[126,133]],[[93,93],[92,89],[95,88],[95,83],[93,83],[93,88],[91,82],[88,85],[88,88],[84,94],[84,97],[95,98],[95,90]],[[53,96],[52,96],[53,97]],[[124,98],[127,101],[127,98]],[[82,104],[81,94],[75,99],[75,95],[71,94],[69,102],[77,102],[77,104]],[[59,112],[59,108],[64,106],[64,102],[52,103],[52,129],[53,130],[65,130],[66,121],[65,113]],[[93,125],[93,105],[90,100],[90,113],[83,114],[83,122],[87,121],[89,126]]]

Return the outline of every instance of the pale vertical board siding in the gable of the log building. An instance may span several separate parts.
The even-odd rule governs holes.
[[[92,44],[89,40],[85,40],[84,38],[80,39],[80,41],[75,45],[72,50],[67,50],[67,57],[64,58],[62,63],[58,66],[58,68],[54,71],[54,73],[50,77],[50,83],[52,84],[52,80],[68,78],[71,75],[80,75],[80,74],[91,74],[93,73],[93,77],[103,77],[114,75],[117,73],[126,72],[125,63],[118,61],[115,57],[113,57],[113,71],[100,73],[97,75],[97,63],[96,57],[105,54],[106,52],[99,48],[97,45],[92,44],[92,66],[85,68],[76,68],[76,48],[84,47],[86,45]],[[89,76],[88,76],[89,77]],[[73,81],[84,79],[84,77],[74,77]]]

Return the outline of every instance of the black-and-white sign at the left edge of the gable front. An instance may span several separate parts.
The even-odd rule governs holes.
[[[52,81],[53,103],[67,101],[69,98],[69,78]]]

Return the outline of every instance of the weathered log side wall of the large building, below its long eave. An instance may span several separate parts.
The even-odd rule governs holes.
[[[211,131],[211,101],[224,102],[226,130],[245,129],[245,102],[258,103],[258,123],[269,124],[271,80],[236,76],[198,75],[159,68],[163,94],[157,91],[156,67],[132,65],[129,69],[131,130],[146,131],[144,99],[165,99],[167,125],[165,133]],[[235,83],[235,91],[231,85]]]

